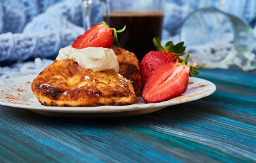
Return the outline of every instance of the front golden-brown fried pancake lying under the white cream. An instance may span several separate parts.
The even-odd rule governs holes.
[[[129,105],[136,101],[130,81],[113,70],[93,72],[72,60],[56,60],[34,79],[32,91],[43,105]]]

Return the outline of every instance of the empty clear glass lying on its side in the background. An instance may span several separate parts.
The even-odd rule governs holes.
[[[185,42],[189,61],[195,65],[256,68],[253,30],[238,17],[216,8],[200,8],[189,14],[180,28],[180,41]]]

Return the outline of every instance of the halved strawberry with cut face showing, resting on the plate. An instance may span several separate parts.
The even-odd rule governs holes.
[[[143,89],[143,99],[148,103],[162,102],[184,93],[188,88],[189,71],[196,76],[199,73],[195,69],[204,66],[186,65],[188,57],[182,63],[175,61],[158,66]]]

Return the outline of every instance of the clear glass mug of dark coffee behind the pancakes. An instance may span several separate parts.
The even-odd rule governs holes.
[[[84,6],[90,6],[90,2],[92,3],[92,0],[84,1]],[[139,61],[145,54],[155,50],[152,40],[154,37],[161,38],[162,35],[164,0],[107,0],[103,2],[103,19],[109,27],[122,29],[126,25],[125,31],[118,33],[122,48],[134,52]]]

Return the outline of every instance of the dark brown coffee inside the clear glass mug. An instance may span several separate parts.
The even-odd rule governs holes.
[[[108,19],[104,16],[104,21],[117,30],[126,25],[125,31],[118,33],[120,46],[134,52],[139,61],[151,50],[156,50],[152,40],[161,37],[162,12],[111,12]]]

